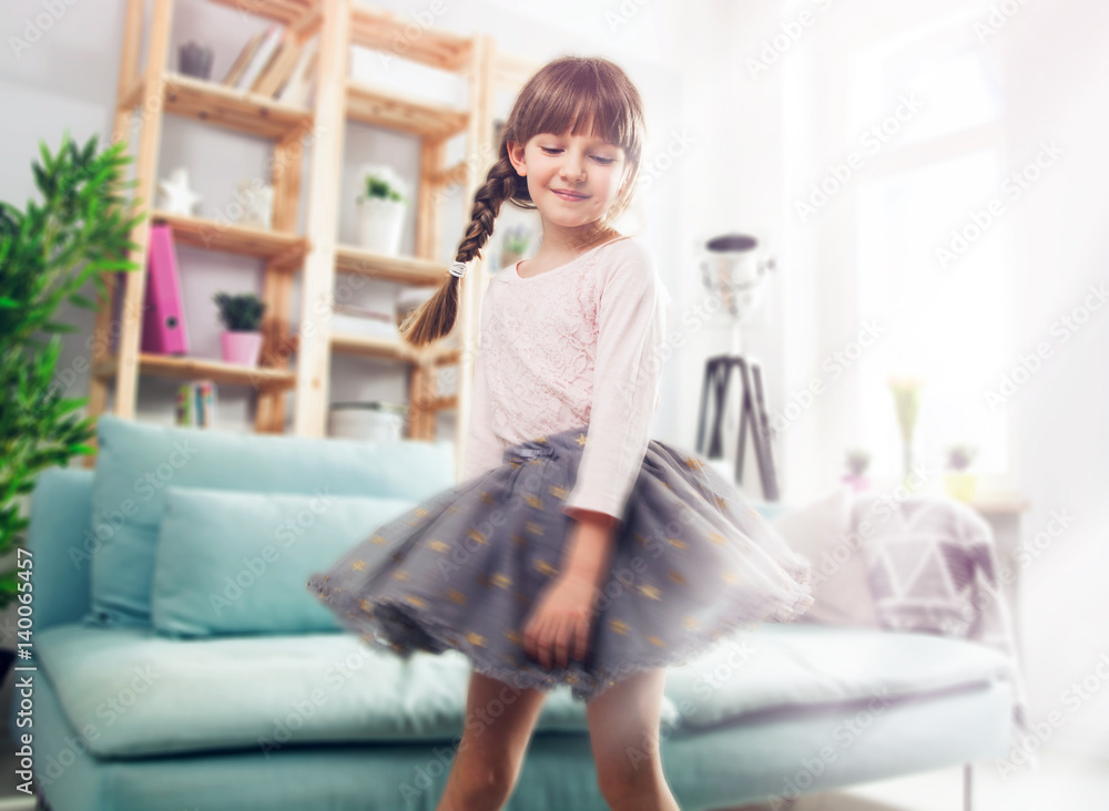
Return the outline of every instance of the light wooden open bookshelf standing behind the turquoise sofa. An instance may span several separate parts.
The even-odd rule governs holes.
[[[488,271],[480,260],[471,263],[459,288],[461,299],[456,329],[430,347],[417,349],[399,336],[379,338],[333,332],[330,308],[325,307],[326,311],[321,315],[318,305],[334,302],[335,281],[339,275],[410,287],[434,287],[444,281],[454,257],[444,255],[441,237],[445,232],[439,211],[442,192],[460,185],[464,199],[472,198],[477,184],[492,162],[495,88],[508,84],[518,89],[538,65],[498,52],[490,38],[481,34],[459,35],[431,28],[414,38],[406,18],[355,4],[353,0],[269,0],[247,7],[240,0],[208,1],[285,27],[299,48],[318,38],[311,109],[225,85],[215,76],[201,80],[169,70],[173,0],[153,0],[152,4],[144,0],[126,0],[114,132],[118,136],[130,134],[134,115],[143,122],[139,137],[129,144],[135,162],[135,196],[146,202],[155,199],[165,114],[268,140],[275,158],[271,178],[274,186],[272,228],[151,207],[147,208],[150,216],[132,234],[136,249],[131,258],[145,257],[150,225],[164,222],[172,227],[179,245],[261,261],[264,274],[260,297],[266,302],[261,368],[142,352],[141,319],[124,319],[114,353],[109,355],[103,341],[96,342],[90,376],[90,414],[106,410],[111,392],[113,413],[134,419],[142,377],[206,378],[254,390],[257,397],[255,431],[285,431],[286,396],[292,392],[293,432],[323,435],[329,407],[332,358],[344,355],[399,363],[408,370],[410,438],[431,439],[435,415],[442,410],[455,410],[456,424],[465,424],[472,371],[468,366],[472,362],[479,321],[477,309],[488,281]],[[244,44],[247,38],[244,33]],[[143,42],[145,54],[140,59]],[[457,73],[466,80],[467,104],[454,107],[407,95],[396,88],[356,80],[349,75],[352,48],[376,49],[390,59]],[[414,256],[374,254],[335,238],[343,138],[348,122],[386,127],[419,140]],[[311,160],[302,177],[304,142],[309,135],[313,140]],[[447,142],[458,136],[465,136],[467,156],[484,156],[480,165],[472,157],[446,164]],[[305,233],[298,234],[302,202],[307,217]],[[468,212],[468,206],[465,208]],[[450,223],[448,236],[456,230],[460,233],[462,226],[465,223]],[[120,306],[128,312],[142,311],[145,274],[121,274],[119,278],[123,281],[123,289],[118,291],[122,298]],[[301,283],[299,321],[311,320],[314,327],[302,333],[291,329],[294,279]],[[109,291],[115,295],[116,275],[105,274],[104,280]],[[110,302],[111,298],[102,302],[98,311],[95,328],[99,333],[111,327]],[[295,359],[295,368],[291,359]],[[435,392],[435,373],[438,368],[451,365],[459,367],[458,389],[442,397]],[[378,371],[370,366],[366,373]],[[87,459],[90,465],[94,463],[94,456]]]

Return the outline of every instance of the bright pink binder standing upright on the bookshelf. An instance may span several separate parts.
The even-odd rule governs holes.
[[[177,255],[173,249],[173,232],[165,223],[154,223],[150,227],[146,271],[142,351],[187,355],[189,331],[185,329]]]

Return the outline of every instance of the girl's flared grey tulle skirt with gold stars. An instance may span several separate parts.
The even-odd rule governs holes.
[[[682,665],[733,632],[813,603],[794,553],[703,458],[650,440],[593,600],[583,660],[545,668],[523,630],[563,564],[562,512],[588,427],[506,449],[502,463],[374,530],[308,589],[347,629],[408,658],[454,648],[517,688],[571,686],[591,701],[641,670]]]

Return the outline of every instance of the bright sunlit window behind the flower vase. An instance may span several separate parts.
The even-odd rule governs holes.
[[[858,366],[861,444],[897,476],[902,439],[887,380],[924,378],[917,454],[979,448],[975,470],[1006,471],[1007,417],[991,404],[1016,348],[1007,285],[1004,99],[996,54],[960,14],[858,52],[848,122],[862,132],[915,94],[919,111],[884,144],[855,198],[856,304],[885,329]]]

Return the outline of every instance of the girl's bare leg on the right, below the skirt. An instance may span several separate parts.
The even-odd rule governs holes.
[[[586,705],[597,780],[612,811],[681,811],[659,752],[665,680],[665,668],[644,670]]]

